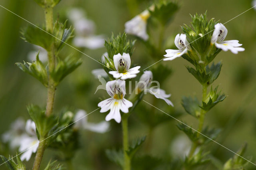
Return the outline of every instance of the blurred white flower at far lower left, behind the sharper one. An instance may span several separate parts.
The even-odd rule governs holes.
[[[24,129],[25,121],[22,118],[18,118],[11,124],[10,130],[2,134],[3,142],[9,142],[11,149],[20,146],[20,140],[24,137]]]

